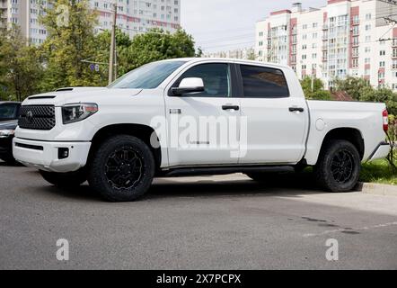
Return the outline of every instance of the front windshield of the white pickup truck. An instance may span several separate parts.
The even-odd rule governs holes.
[[[108,88],[154,89],[186,61],[153,62],[119,77]]]

